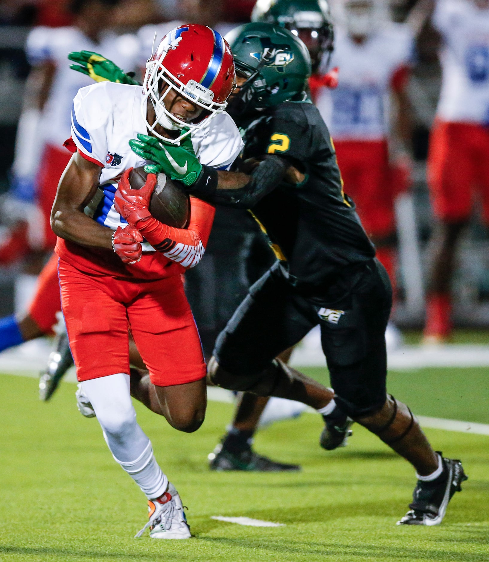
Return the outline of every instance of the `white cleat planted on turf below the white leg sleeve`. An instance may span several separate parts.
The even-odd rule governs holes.
[[[190,527],[184,507],[175,486],[168,482],[168,488],[158,500],[148,500],[148,523],[134,538],[139,538],[149,527],[151,538],[190,538]]]

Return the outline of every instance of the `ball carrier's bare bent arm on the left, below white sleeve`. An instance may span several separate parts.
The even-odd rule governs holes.
[[[100,170],[100,166],[75,153],[58,185],[51,228],[60,238],[81,246],[112,250],[112,230],[83,212],[97,191]]]

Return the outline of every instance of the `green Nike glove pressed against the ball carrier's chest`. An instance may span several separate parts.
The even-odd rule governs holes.
[[[171,179],[183,182],[185,185],[192,185],[202,171],[202,164],[195,156],[194,149],[190,140],[182,141],[182,146],[166,143],[148,135],[138,134],[138,139],[131,139],[129,146],[145,160],[152,160],[154,164],[147,164],[144,170],[150,174],[163,172]]]

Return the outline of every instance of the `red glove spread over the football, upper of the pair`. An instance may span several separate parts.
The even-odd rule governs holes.
[[[132,168],[122,174],[114,197],[114,206],[118,214],[123,216],[131,226],[138,226],[140,221],[148,220],[149,201],[156,185],[156,174],[148,174],[146,183],[141,189],[131,189],[129,173]]]

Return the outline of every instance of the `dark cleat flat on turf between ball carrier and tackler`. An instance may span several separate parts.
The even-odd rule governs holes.
[[[221,443],[209,454],[211,470],[246,470],[248,472],[299,472],[298,464],[277,463],[266,456],[258,455],[252,448],[231,452]]]

